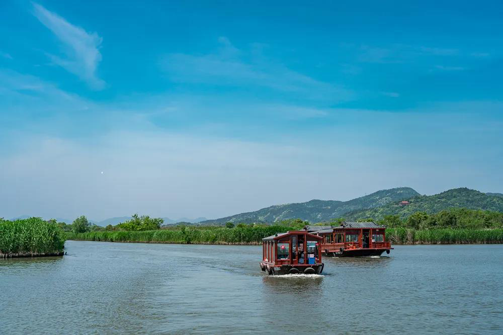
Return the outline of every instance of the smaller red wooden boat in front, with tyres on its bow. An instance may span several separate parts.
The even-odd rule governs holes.
[[[260,268],[270,275],[320,274],[322,239],[305,230],[266,237],[262,239]]]

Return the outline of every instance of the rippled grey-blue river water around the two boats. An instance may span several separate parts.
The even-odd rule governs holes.
[[[0,333],[498,333],[503,245],[396,246],[268,277],[262,247],[66,243],[0,261]]]

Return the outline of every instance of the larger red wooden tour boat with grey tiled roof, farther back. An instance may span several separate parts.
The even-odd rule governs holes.
[[[326,256],[380,256],[389,254],[386,227],[375,222],[342,222],[341,226],[305,226],[304,230],[321,237],[320,249]]]

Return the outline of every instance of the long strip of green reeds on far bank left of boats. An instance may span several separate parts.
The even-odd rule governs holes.
[[[257,244],[262,239],[277,233],[293,231],[285,226],[210,228],[183,227],[179,230],[158,230],[145,232],[90,232],[68,233],[68,240],[108,241],[108,242],[158,242],[184,244]]]

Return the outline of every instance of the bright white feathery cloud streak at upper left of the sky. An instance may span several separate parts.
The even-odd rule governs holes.
[[[33,3],[33,14],[56,35],[64,47],[66,58],[48,54],[52,62],[68,72],[77,75],[94,89],[102,89],[105,82],[98,78],[96,71],[101,61],[98,50],[102,38],[97,33],[88,33],[80,27],[70,24],[57,14]]]

